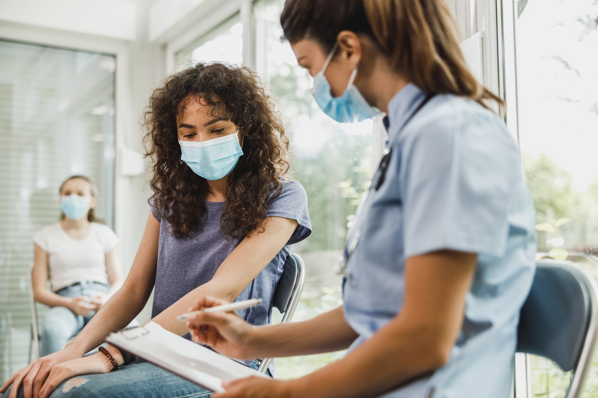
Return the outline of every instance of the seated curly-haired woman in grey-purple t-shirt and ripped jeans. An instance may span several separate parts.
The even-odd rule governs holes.
[[[262,298],[240,314],[253,325],[271,320],[285,259],[311,226],[303,187],[286,178],[289,139],[259,79],[246,67],[199,63],[154,91],[145,128],[154,195],[129,276],[66,348],[7,381],[2,388],[21,387],[11,398],[17,390],[54,398],[210,396],[112,345],[106,349],[118,372],[103,353],[83,357],[139,314],[154,287],[152,320],[179,335],[188,330],[176,316],[204,295]]]

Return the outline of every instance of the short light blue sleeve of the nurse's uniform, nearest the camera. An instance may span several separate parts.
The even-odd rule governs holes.
[[[440,249],[500,256],[523,178],[517,144],[490,111],[444,108],[401,149],[405,257]]]

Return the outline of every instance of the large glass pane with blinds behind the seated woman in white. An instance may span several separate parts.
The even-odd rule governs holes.
[[[29,363],[32,236],[59,220],[60,183],[89,176],[113,224],[114,72],[109,55],[0,41],[0,383]]]

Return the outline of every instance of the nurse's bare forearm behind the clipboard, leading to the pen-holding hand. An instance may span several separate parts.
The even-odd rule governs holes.
[[[309,355],[344,350],[357,337],[338,307],[303,322],[260,326],[257,345],[261,357]]]

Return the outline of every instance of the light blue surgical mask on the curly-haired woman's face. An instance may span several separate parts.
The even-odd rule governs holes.
[[[187,163],[195,174],[210,181],[219,180],[230,174],[243,155],[237,134],[225,135],[201,143],[194,141],[179,141],[179,143],[181,160]]]

